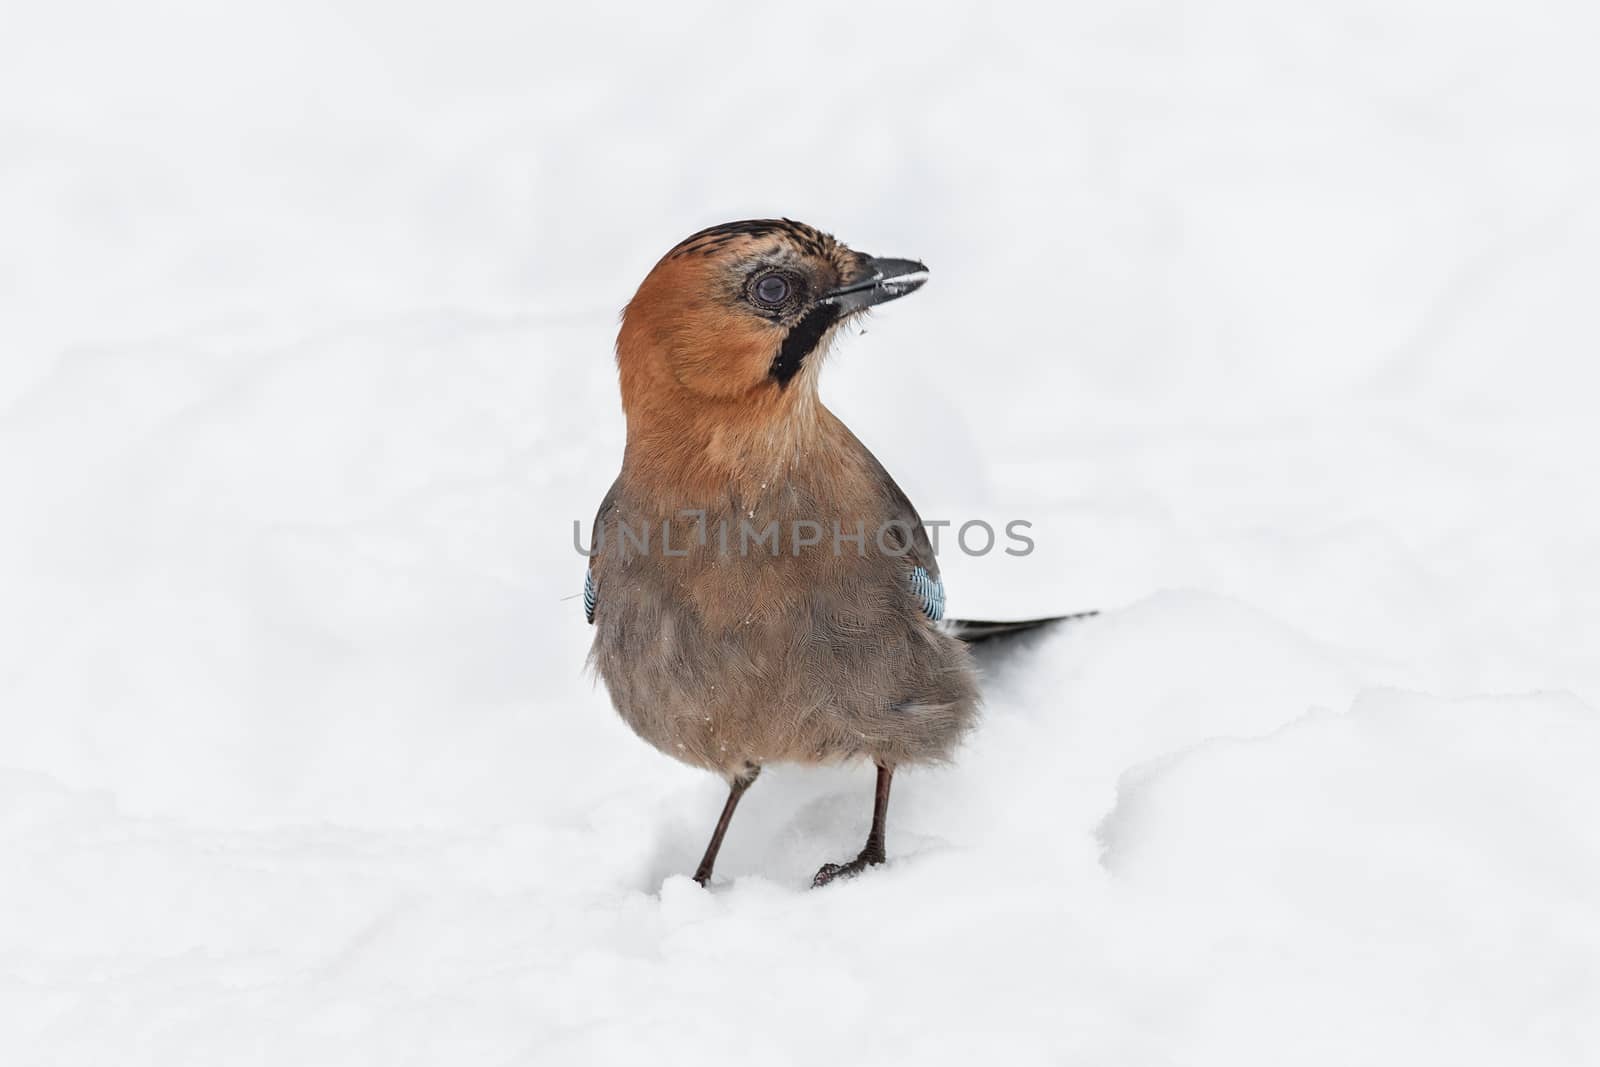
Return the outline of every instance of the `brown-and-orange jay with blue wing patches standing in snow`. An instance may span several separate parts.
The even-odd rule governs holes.
[[[866,845],[813,886],[885,862],[896,769],[949,761],[978,718],[962,632],[1053,621],[947,624],[917,509],[819,397],[842,328],[926,280],[920,261],[747,219],[678,242],[622,310],[626,443],[584,576],[590,664],[634,733],[726,782],[702,886],[774,763],[877,768]]]

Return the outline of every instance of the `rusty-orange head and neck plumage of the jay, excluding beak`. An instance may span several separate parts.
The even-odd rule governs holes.
[[[827,477],[853,440],[822,406],[818,363],[842,320],[816,294],[864,258],[789,221],[702,230],[667,253],[622,312],[622,482],[662,509],[749,501]],[[760,278],[779,296],[760,299]],[[787,294],[787,296],[784,296]]]

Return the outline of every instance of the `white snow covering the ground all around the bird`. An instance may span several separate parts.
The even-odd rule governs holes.
[[[8,5],[0,1061],[1600,1062],[1595,5],[582,8]],[[778,213],[931,267],[950,613],[1106,614],[701,891],[571,522]]]

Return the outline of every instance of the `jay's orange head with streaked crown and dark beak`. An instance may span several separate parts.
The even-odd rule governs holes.
[[[629,416],[643,406],[781,411],[813,392],[840,323],[915,291],[928,269],[875,259],[790,219],[726,222],[669,251],[622,312]]]

